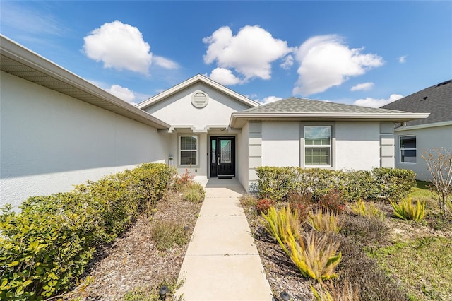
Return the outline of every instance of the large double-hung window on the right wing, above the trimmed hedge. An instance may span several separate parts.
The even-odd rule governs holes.
[[[304,126],[304,165],[331,166],[331,126]]]

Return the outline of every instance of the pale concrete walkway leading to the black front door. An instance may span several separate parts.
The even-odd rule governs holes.
[[[177,291],[193,300],[272,300],[270,285],[248,221],[238,201],[236,179],[209,179],[206,199],[182,263]]]

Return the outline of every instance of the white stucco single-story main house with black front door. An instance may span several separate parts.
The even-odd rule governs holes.
[[[4,36],[0,54],[0,205],[145,162],[245,189],[261,165],[393,167],[394,123],[428,116],[298,98],[259,105],[201,75],[134,107]]]

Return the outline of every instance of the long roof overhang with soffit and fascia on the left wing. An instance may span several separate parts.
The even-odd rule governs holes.
[[[76,74],[41,57],[0,35],[1,71],[18,76],[37,85],[69,95],[90,105],[153,126],[168,129],[169,124],[85,81]]]

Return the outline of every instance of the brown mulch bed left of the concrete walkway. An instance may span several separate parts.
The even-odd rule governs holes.
[[[97,253],[85,273],[92,280],[64,295],[64,299],[123,300],[128,292],[151,290],[164,281],[175,281],[188,244],[159,251],[150,237],[150,229],[156,221],[171,221],[186,226],[186,235],[191,237],[201,205],[169,191],[152,214],[139,216],[129,230]]]

